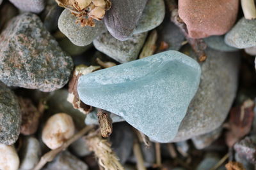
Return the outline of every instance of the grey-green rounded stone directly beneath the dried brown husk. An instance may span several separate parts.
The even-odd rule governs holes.
[[[102,21],[95,20],[95,27],[81,27],[80,24],[76,24],[76,17],[67,9],[60,15],[58,27],[77,46],[89,45],[102,32],[106,32],[106,27]]]

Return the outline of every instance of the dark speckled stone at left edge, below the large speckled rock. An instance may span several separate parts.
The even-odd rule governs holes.
[[[15,94],[0,81],[0,143],[12,145],[20,134],[21,113]]]

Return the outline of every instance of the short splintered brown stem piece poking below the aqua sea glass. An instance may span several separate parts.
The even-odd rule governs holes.
[[[98,109],[97,116],[99,118],[101,136],[108,138],[113,131],[110,113],[106,110]]]

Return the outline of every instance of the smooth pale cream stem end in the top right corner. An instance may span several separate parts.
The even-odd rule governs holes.
[[[241,0],[244,18],[253,20],[256,18],[256,8],[254,0]]]

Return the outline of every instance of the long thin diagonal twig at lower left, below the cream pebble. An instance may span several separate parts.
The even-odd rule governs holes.
[[[94,128],[93,125],[89,125],[84,127],[81,131],[77,132],[77,134],[74,134],[74,136],[72,136],[70,139],[68,139],[65,143],[63,143],[62,146],[60,146],[59,148],[56,148],[55,150],[51,150],[50,152],[45,153],[40,161],[38,162],[38,164],[34,167],[33,170],[39,170],[42,167],[45,166],[45,164],[47,162],[51,162],[56,155],[58,155],[58,153],[60,153],[61,151],[65,150],[69,145],[71,145],[71,143],[73,143],[74,141],[76,141],[77,139],[81,138],[81,136],[83,136],[84,134],[86,134],[87,132],[91,131]]]

